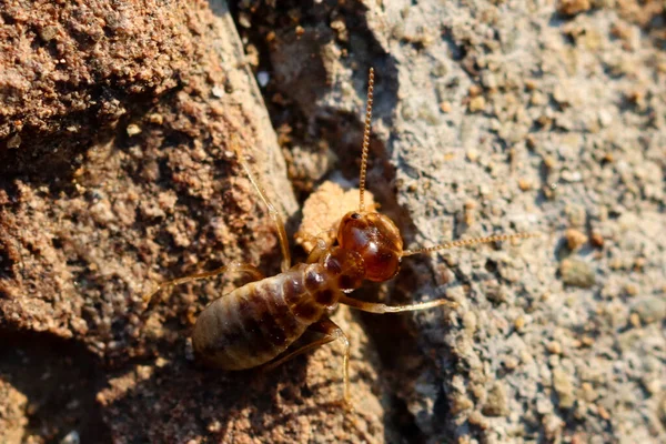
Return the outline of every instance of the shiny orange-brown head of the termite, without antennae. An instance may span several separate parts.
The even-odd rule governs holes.
[[[364,279],[387,281],[400,271],[403,241],[397,226],[383,214],[364,211],[346,213],[337,230],[337,243],[341,249],[361,256]]]

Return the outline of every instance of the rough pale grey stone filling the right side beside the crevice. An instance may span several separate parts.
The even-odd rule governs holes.
[[[664,442],[664,3],[244,4],[284,147],[321,138],[350,178],[375,68],[371,190],[407,245],[543,233],[405,263],[394,295],[461,304],[414,316],[420,436]]]

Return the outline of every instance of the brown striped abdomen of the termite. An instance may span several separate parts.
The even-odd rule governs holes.
[[[194,326],[196,357],[218,369],[244,370],[284,352],[324,313],[305,285],[307,271],[317,268],[299,264],[213,301]]]

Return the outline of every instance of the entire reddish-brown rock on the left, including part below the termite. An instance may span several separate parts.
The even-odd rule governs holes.
[[[330,405],[335,345],[270,374],[188,361],[196,314],[232,280],[142,302],[158,281],[231,260],[278,270],[234,141],[282,214],[297,209],[225,3],[3,1],[0,44],[2,438],[381,441],[383,390],[357,323],[341,320],[360,408],[344,416]],[[40,357],[51,352],[64,362]]]

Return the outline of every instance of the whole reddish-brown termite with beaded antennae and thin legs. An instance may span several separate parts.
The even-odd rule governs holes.
[[[367,108],[361,157],[360,203],[357,211],[346,213],[340,221],[335,238],[316,239],[306,263],[291,265],[284,224],[256,181],[239,143],[234,149],[240,164],[266,205],[278,229],[282,250],[282,272],[264,278],[255,266],[233,262],[211,272],[192,274],[161,283],[144,296],[150,303],[161,289],[211,278],[225,272],[243,272],[254,281],[211,302],[199,315],[192,333],[195,356],[205,364],[229,371],[258,366],[273,369],[285,361],[332,341],[344,345],[344,403],[350,406],[350,344],[344,332],[329,315],[345,304],[372,313],[397,313],[427,310],[455,303],[435,300],[411,305],[389,306],[362,302],[346,293],[359,289],[364,280],[384,282],[397,274],[401,260],[417,253],[430,253],[453,246],[528,238],[533,234],[498,234],[487,238],[446,242],[417,250],[403,250],[397,226],[386,215],[367,211],[364,202],[365,171],[372,118],[374,71],[370,70]],[[304,334],[317,334],[297,349],[291,346]]]

